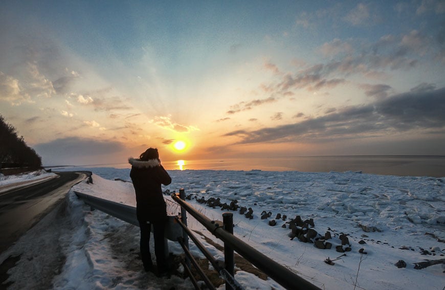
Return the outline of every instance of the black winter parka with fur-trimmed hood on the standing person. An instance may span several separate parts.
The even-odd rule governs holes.
[[[162,196],[161,184],[169,185],[171,177],[159,159],[142,161],[129,158],[130,177],[136,193],[138,220],[163,222],[167,219],[167,206]]]

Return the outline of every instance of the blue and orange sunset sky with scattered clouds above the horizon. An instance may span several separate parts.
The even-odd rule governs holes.
[[[0,37],[44,165],[445,155],[443,1],[3,1]]]

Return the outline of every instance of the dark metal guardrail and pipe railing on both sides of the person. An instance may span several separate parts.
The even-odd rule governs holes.
[[[78,191],[75,191],[75,193],[79,198],[81,198],[92,208],[103,211],[109,215],[113,215],[119,219],[129,222],[132,225],[139,226],[135,207],[94,197]],[[235,237],[233,235],[233,214],[231,212],[222,213],[223,221],[210,220],[208,217],[201,214],[191,205],[185,202],[184,189],[181,189],[180,193],[173,193],[171,197],[177,204],[181,206],[181,218],[176,217],[176,221],[183,229],[183,236],[173,237],[170,239],[173,241],[178,241],[181,244],[181,247],[186,254],[186,260],[183,261],[184,269],[189,275],[190,280],[194,284],[196,289],[199,289],[199,286],[195,278],[191,274],[191,263],[193,264],[199,276],[203,278],[203,281],[206,283],[209,289],[215,289],[215,286],[210,282],[209,278],[204,274],[201,267],[199,267],[196,260],[190,254],[188,247],[189,237],[193,240],[195,246],[206,256],[206,258],[212,264],[213,268],[218,272],[220,277],[226,281],[226,289],[243,289],[243,287],[234,279],[234,251],[250,261],[259,270],[264,272],[266,275],[268,275],[281,286],[287,289],[320,289],[309,281],[301,278],[294,272],[286,269],[281,264],[253,249],[251,246],[249,246],[247,243],[243,242],[239,238]],[[214,257],[208,252],[208,250],[203,246],[203,244],[193,235],[193,233],[187,227],[186,212],[191,214],[210,233],[224,242],[224,263],[221,264],[220,262],[216,261]]]

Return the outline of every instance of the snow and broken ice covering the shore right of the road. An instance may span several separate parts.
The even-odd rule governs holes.
[[[14,282],[10,288],[38,283],[32,282],[39,280],[26,270],[33,260],[33,264],[53,264],[48,270],[47,287],[54,289],[192,289],[189,279],[174,275],[160,279],[144,272],[137,258],[139,228],[100,211],[90,211],[74,194],[76,190],[135,206],[131,183],[115,181],[129,181],[129,169],[90,170],[94,172],[93,184],[84,181],[74,186],[64,204],[0,255],[1,263],[11,255],[21,254],[8,272],[7,281]],[[356,280],[355,288],[364,289],[441,290],[445,286],[443,264],[414,269],[416,262],[445,258],[445,178],[259,170],[169,173],[173,183],[164,190],[184,188],[186,195],[191,194],[187,202],[210,219],[222,220],[221,213],[227,210],[208,207],[197,199],[219,197],[221,203],[227,204],[236,199],[239,206],[251,207],[253,219],[239,214],[239,210],[233,211],[234,235],[322,289],[353,289]],[[168,194],[164,196],[171,200]],[[171,212],[179,211],[173,203],[168,202],[168,206]],[[272,214],[261,219],[263,211]],[[287,219],[276,219],[277,225],[269,226],[278,213],[287,215]],[[312,218],[319,236],[329,231],[332,239],[327,241],[332,248],[321,250],[314,243],[291,239],[286,221],[297,215],[303,220]],[[222,244],[190,215],[188,226]],[[341,233],[347,234],[351,244],[345,256],[336,251],[336,246],[342,244]],[[197,236],[216,259],[223,259],[224,253],[200,234]],[[361,240],[366,243],[360,244]],[[176,242],[169,241],[168,246],[174,254],[182,252]],[[367,254],[359,253],[362,248]],[[35,249],[51,254],[43,258]],[[190,249],[204,258],[192,241]],[[325,263],[328,257],[335,264]],[[407,266],[399,269],[394,265],[398,260],[404,260]],[[236,265],[235,269],[238,270]],[[235,278],[246,289],[282,288],[271,279],[264,281],[246,271],[236,272]],[[224,288],[221,285],[218,289]]]

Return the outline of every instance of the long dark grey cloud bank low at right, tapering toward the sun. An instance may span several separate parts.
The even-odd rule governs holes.
[[[321,141],[326,139],[385,136],[422,130],[445,134],[445,87],[416,90],[374,103],[349,106],[318,118],[259,130],[235,130],[224,136],[237,136],[238,143]]]

